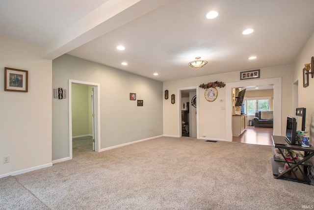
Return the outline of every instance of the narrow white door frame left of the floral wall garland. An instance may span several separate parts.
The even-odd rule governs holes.
[[[181,119],[181,98],[182,90],[195,90],[196,91],[196,138],[200,138],[199,132],[199,87],[192,86],[192,87],[180,87],[178,88],[178,137],[182,136],[182,119]]]

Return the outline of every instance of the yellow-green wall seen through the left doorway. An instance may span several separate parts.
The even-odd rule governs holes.
[[[92,135],[91,87],[72,84],[72,136]]]

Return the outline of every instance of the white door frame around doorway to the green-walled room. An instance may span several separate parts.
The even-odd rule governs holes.
[[[82,84],[89,85],[95,88],[94,92],[94,107],[95,107],[95,151],[99,152],[101,149],[101,139],[100,139],[100,84],[87,82],[87,81],[79,81],[69,79],[69,156],[70,159],[73,158],[72,154],[72,84]]]

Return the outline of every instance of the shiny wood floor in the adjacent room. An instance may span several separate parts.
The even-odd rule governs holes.
[[[244,131],[239,137],[233,137],[233,141],[247,144],[272,146],[272,134],[273,128],[255,128],[254,126],[248,126],[246,131]]]

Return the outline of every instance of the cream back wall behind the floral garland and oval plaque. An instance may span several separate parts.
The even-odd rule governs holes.
[[[282,99],[274,98],[274,103],[281,100],[281,119],[285,121],[287,115],[292,114],[291,91],[292,91],[292,65],[278,66],[261,69],[260,79],[282,78]],[[169,94],[175,93],[178,88],[188,86],[199,86],[202,83],[213,81],[223,81],[225,83],[240,82],[240,72],[209,75],[205,77],[166,81],[163,84],[164,90],[169,90]],[[257,79],[251,79],[257,80]],[[205,97],[205,89],[199,89],[199,133],[206,135],[208,139],[226,140],[226,89],[217,88],[218,96],[214,102],[208,102]],[[232,91],[232,90],[230,90]],[[223,100],[223,102],[220,102]],[[163,100],[163,131],[165,135],[178,136],[178,114],[177,107]],[[230,116],[231,120],[231,116]],[[279,133],[284,133],[285,128]],[[280,130],[280,129],[279,129]]]

